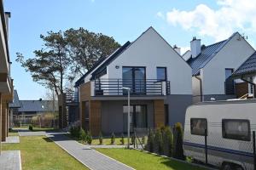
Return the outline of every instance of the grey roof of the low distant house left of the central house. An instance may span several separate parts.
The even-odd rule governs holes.
[[[20,100],[19,112],[47,112],[53,111],[52,100]],[[58,111],[58,103],[55,101],[55,111]]]

